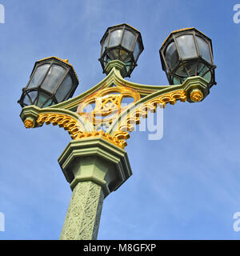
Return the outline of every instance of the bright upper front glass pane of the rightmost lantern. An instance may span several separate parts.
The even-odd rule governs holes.
[[[182,58],[198,57],[192,34],[185,34],[176,38]]]

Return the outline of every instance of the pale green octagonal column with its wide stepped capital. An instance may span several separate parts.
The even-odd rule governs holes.
[[[126,151],[87,138],[71,141],[58,162],[73,190],[60,239],[95,240],[104,198],[132,174]]]

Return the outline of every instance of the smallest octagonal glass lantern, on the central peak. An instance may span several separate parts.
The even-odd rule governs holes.
[[[108,62],[118,59],[125,64],[124,70],[121,70],[122,77],[130,77],[144,49],[140,32],[127,24],[110,26],[100,43],[102,48],[99,61],[103,73],[107,74]]]

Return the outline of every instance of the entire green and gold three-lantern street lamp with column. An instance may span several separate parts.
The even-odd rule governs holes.
[[[90,90],[70,98],[78,86],[74,68],[46,58],[36,62],[19,100],[26,128],[52,123],[72,138],[58,158],[73,190],[60,239],[97,239],[104,198],[132,175],[125,147],[140,118],[168,103],[201,102],[216,83],[210,38],[195,29],[174,31],[160,49],[168,86],[124,79],[143,50],[141,34],[133,27],[110,26],[101,46],[106,78]],[[47,95],[44,100],[42,95]],[[132,101],[122,106],[124,98]]]

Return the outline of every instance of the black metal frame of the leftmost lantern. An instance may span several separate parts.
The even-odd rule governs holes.
[[[48,70],[46,71],[46,74],[44,75],[44,77],[42,78],[42,81],[38,84],[38,86],[35,86],[35,87],[31,87],[30,89],[28,88],[28,86],[30,85],[30,82],[32,81],[32,78],[34,78],[34,74],[36,72],[36,70],[38,69],[39,66],[42,66],[42,65],[46,65],[46,64],[50,64]],[[50,68],[53,66],[53,65],[58,65],[58,66],[61,66],[62,68],[64,68],[66,71],[65,71],[65,74],[62,76],[62,79],[58,82],[58,84],[55,86],[54,88],[54,91],[52,93],[50,93],[49,91],[45,90],[44,88],[42,88],[42,84],[43,82],[45,81],[46,79],[46,76],[47,74],[49,73],[50,71]],[[32,71],[32,73],[30,74],[30,80],[29,82],[27,83],[26,87],[22,88],[22,95],[21,95],[21,98],[18,100],[18,103],[24,107],[24,106],[28,106],[26,105],[26,103],[24,103],[24,99],[26,97],[29,98],[30,100],[30,105],[38,105],[38,100],[39,100],[39,92],[42,92],[43,94],[46,94],[48,96],[48,98],[46,99],[45,102],[42,103],[41,106],[39,107],[44,107],[46,105],[47,102],[50,101],[50,104],[48,103],[47,106],[52,106],[54,104],[58,104],[58,100],[57,98],[55,97],[55,94],[59,88],[59,86],[61,86],[63,80],[66,78],[66,75],[67,74],[70,74],[70,77],[72,78],[73,80],[73,87],[72,89],[70,90],[70,92],[65,96],[65,98],[62,99],[62,102],[66,101],[67,99],[71,98],[75,92],[75,90],[77,89],[78,87],[78,78],[76,76],[76,74],[74,73],[74,69],[71,65],[68,65],[66,62],[63,62],[62,60],[58,59],[58,58],[55,58],[55,57],[50,57],[50,58],[45,58],[43,60],[40,60],[38,62],[35,62],[35,65],[34,65],[34,69]],[[30,92],[34,92],[36,91],[37,92],[37,97],[35,98],[34,102],[32,102],[29,94]]]

